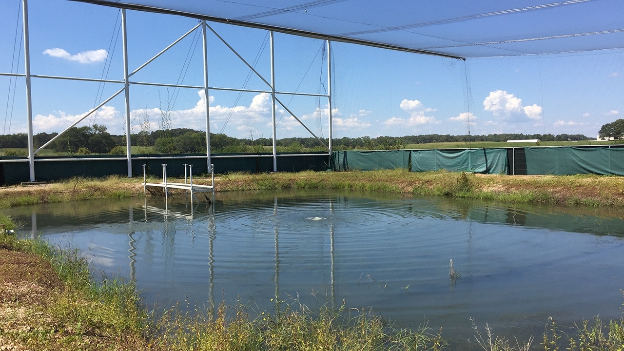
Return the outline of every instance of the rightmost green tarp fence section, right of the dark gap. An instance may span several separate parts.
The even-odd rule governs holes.
[[[624,175],[624,149],[610,147],[525,147],[527,174]]]

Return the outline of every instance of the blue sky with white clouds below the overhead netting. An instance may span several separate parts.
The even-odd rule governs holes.
[[[0,0],[1,72],[10,72],[12,64],[12,71],[16,70],[17,61],[12,61],[11,54],[16,24],[21,29],[20,2]],[[30,0],[29,14],[32,74],[99,78],[107,72],[109,79],[123,78],[121,34],[117,38],[118,9],[63,0]],[[162,14],[127,14],[130,71],[198,23]],[[210,26],[248,61],[255,61],[257,56],[256,69],[270,80],[268,44],[262,50],[263,42],[268,40],[266,31],[224,24]],[[197,41],[200,35],[197,32],[197,36],[186,37],[132,80],[175,83],[183,76],[184,84],[202,86],[202,44]],[[208,37],[210,86],[243,87],[249,69],[212,33]],[[332,54],[334,137],[467,134],[468,119],[471,134],[596,136],[602,124],[622,117],[624,112],[622,50],[464,62],[334,43]],[[278,91],[324,93],[327,72],[322,41],[276,33],[275,55]],[[19,72],[23,72],[23,56],[17,59]],[[33,78],[34,132],[61,131],[121,87],[112,83],[102,87],[94,82]],[[246,87],[268,89],[253,74]],[[205,129],[205,101],[197,89],[131,86],[130,94],[134,132],[140,131],[143,116],[149,117],[152,130],[158,129],[160,110],[167,110],[167,105],[173,127]],[[270,97],[257,93],[243,93],[240,98],[238,95],[210,92],[211,131],[235,137],[271,137]],[[278,98],[290,103],[291,111],[314,133],[328,136],[326,99]],[[24,79],[0,77],[2,132],[26,131],[25,105]],[[278,138],[309,136],[290,114],[279,110]],[[93,123],[105,124],[113,134],[123,134],[123,94],[79,126]]]

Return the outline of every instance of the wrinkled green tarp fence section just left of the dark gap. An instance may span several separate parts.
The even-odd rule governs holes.
[[[467,171],[484,174],[507,174],[507,150],[418,150],[411,154],[412,172]]]

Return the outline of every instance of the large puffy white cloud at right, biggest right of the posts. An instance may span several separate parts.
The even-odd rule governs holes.
[[[502,119],[522,121],[536,120],[542,116],[542,107],[537,105],[522,106],[522,99],[509,94],[504,90],[491,91],[483,101],[485,111],[490,111],[494,116]]]

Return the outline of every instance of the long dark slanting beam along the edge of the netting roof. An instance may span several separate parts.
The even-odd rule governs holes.
[[[329,41],[337,41],[337,42],[346,42],[348,44],[358,44],[358,45],[363,45],[363,46],[379,47],[381,49],[389,49],[389,50],[394,50],[394,51],[413,52],[414,54],[425,54],[425,55],[432,55],[432,56],[448,57],[448,58],[451,58],[451,59],[466,60],[465,57],[444,54],[442,52],[435,52],[435,51],[428,51],[428,50],[421,50],[421,49],[411,49],[409,47],[402,47],[402,46],[396,46],[396,45],[392,45],[392,44],[385,44],[383,42],[366,41],[366,40],[355,39],[355,38],[351,38],[351,37],[333,36],[331,34],[323,34],[323,33],[318,33],[318,32],[303,31],[301,29],[277,27],[277,26],[271,26],[269,24],[253,23],[253,22],[246,22],[246,21],[237,21],[235,19],[227,19],[227,18],[216,17],[216,16],[207,16],[205,14],[198,14],[198,13],[187,12],[187,11],[163,9],[163,8],[154,7],[154,6],[147,6],[147,5],[140,5],[140,4],[124,4],[124,3],[120,3],[120,2],[117,2],[117,1],[113,1],[113,0],[70,0],[70,1],[86,2],[86,3],[89,3],[89,4],[110,6],[110,7],[129,9],[129,10],[136,10],[136,11],[156,12],[156,13],[162,13],[162,14],[173,14],[173,15],[176,15],[176,16],[190,17],[190,18],[195,18],[195,19],[203,19],[205,21],[210,21],[210,22],[233,24],[234,26],[250,27],[250,28],[256,28],[256,29],[264,29],[265,31],[274,31],[274,32],[280,32],[280,33],[285,33],[285,34],[291,34],[291,35],[295,35],[295,36],[311,37],[313,39],[321,39],[321,40],[329,40]]]

